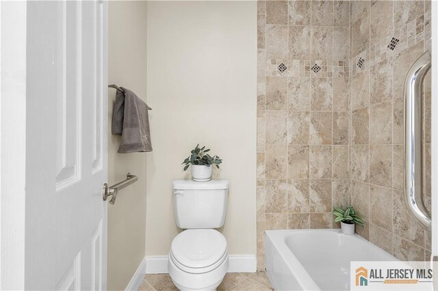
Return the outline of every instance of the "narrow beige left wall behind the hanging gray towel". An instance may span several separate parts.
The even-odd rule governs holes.
[[[146,2],[109,1],[108,83],[127,87],[146,100]],[[115,89],[108,89],[108,120],[112,120]],[[146,156],[118,154],[120,136],[108,132],[108,183],[125,179],[128,171],[138,182],[108,204],[108,289],[125,290],[144,258],[146,229]]]

